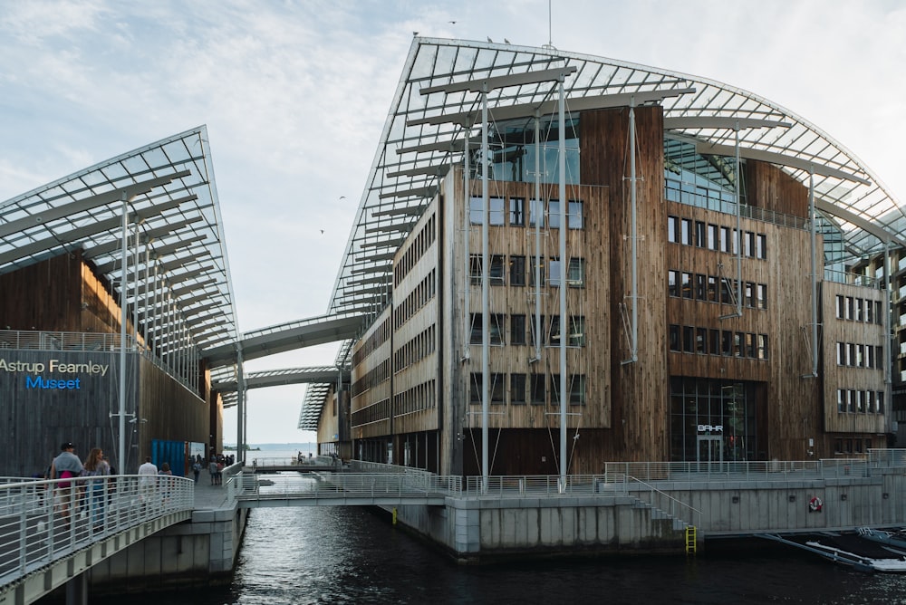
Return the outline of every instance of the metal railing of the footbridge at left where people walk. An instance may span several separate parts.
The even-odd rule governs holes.
[[[194,483],[178,476],[111,475],[0,484],[0,589],[115,533],[191,511]]]

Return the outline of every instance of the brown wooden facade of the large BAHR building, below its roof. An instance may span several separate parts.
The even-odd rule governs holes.
[[[581,279],[565,284],[571,319],[564,330],[552,330],[560,313],[561,284],[553,280],[560,230],[551,225],[558,187],[543,185],[549,214],[539,247],[530,216],[534,184],[489,184],[490,473],[559,472],[560,338],[571,339],[565,462],[571,474],[597,473],[613,460],[818,459],[882,447],[883,371],[836,363],[836,342],[863,345],[855,351],[866,360],[864,347],[882,349],[882,325],[834,316],[839,296],[872,301],[874,312],[882,293],[824,282],[819,274],[813,347],[805,187],[780,168],[747,160],[738,218],[695,200],[670,201],[662,111],[636,108],[634,120],[633,181],[629,108],[584,111],[579,119],[582,184],[568,186],[566,195],[580,203],[582,216],[566,230],[566,254]],[[462,170],[454,168],[395,255],[392,303],[353,347],[353,456],[391,452],[396,464],[481,472],[476,334],[484,219],[464,187]],[[481,200],[477,177],[468,198]],[[819,273],[822,246],[818,236]],[[545,267],[540,296],[532,283],[536,254]],[[540,356],[533,346],[536,309],[545,319]],[[878,351],[872,349],[872,359]],[[841,411],[838,393],[851,391],[853,411]],[[360,440],[368,447],[357,450]]]

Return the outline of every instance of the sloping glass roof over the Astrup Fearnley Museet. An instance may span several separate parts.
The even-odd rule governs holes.
[[[235,342],[236,311],[204,126],[0,203],[0,273],[81,248],[121,294],[124,197],[130,234],[125,300],[138,303],[146,341],[158,343],[159,354]],[[155,289],[157,312],[147,304]]]

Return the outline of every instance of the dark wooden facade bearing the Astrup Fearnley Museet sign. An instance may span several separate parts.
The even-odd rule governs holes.
[[[101,447],[118,465],[119,419],[111,414],[120,410],[119,346],[63,350],[56,338],[63,332],[72,341],[80,333],[108,334],[114,337],[110,342],[118,342],[120,309],[108,285],[76,250],[0,275],[0,292],[0,328],[46,337],[36,339],[43,343],[36,349],[15,348],[12,338],[0,348],[7,369],[0,371],[0,435],[17,452],[0,463],[0,474],[42,474],[64,441],[76,444],[82,457]],[[141,335],[138,340],[143,341]],[[21,370],[8,370],[13,366]],[[56,370],[61,367],[70,371]],[[223,406],[210,390],[206,368],[198,368],[201,392],[188,389],[144,353],[129,351],[126,371],[126,411],[138,421],[127,425],[127,460],[120,473],[134,473],[151,454],[154,439],[205,443],[222,451]],[[69,382],[64,388],[47,387],[58,379]]]

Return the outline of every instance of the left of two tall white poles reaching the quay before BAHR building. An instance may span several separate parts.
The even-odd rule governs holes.
[[[490,221],[489,200],[487,193],[487,84],[481,91],[481,197],[484,208],[481,221],[481,491],[487,492],[487,422],[488,399],[490,397],[490,293],[489,272],[490,254],[488,253]]]

